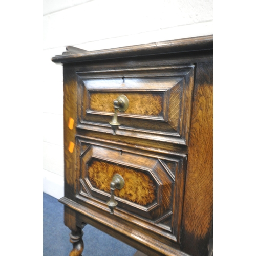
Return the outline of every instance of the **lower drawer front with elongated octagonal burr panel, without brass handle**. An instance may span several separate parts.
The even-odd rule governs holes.
[[[114,175],[124,179],[122,189],[115,189],[115,211],[148,222],[162,229],[167,237],[177,239],[183,204],[186,156],[158,156],[123,147],[92,144],[78,138],[78,197],[87,203],[110,209],[110,183]],[[154,231],[154,230],[153,230]]]

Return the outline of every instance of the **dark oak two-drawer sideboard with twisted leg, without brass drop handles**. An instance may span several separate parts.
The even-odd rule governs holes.
[[[212,36],[87,52],[63,65],[65,225],[91,224],[146,255],[212,252]],[[113,135],[113,101],[118,112]],[[74,125],[73,125],[74,120]],[[115,189],[115,174],[125,184]]]

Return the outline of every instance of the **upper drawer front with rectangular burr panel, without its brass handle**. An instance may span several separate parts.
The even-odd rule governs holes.
[[[118,113],[118,135],[188,143],[194,66],[77,75],[79,129],[113,133],[113,101],[125,95],[129,107]]]

